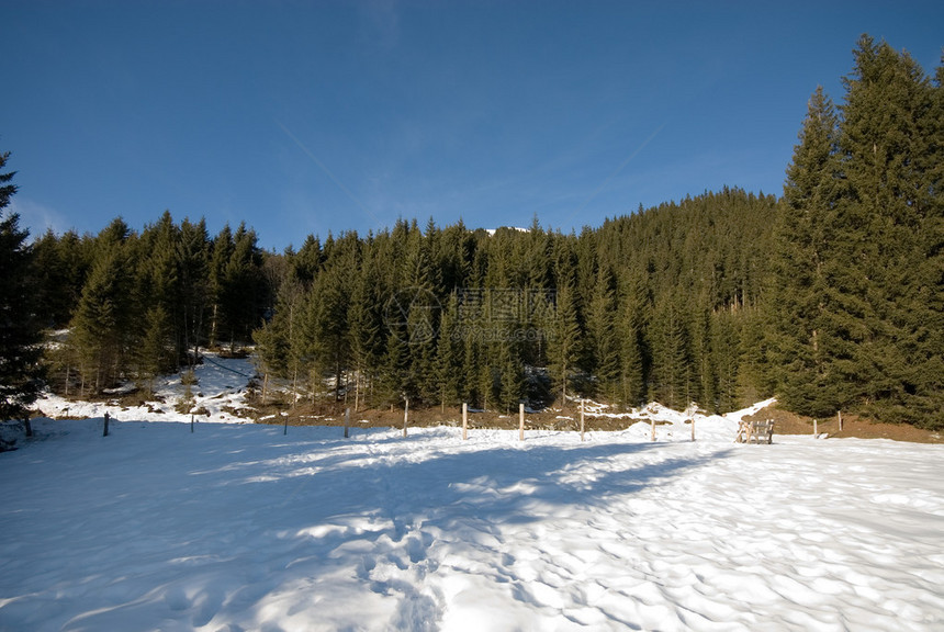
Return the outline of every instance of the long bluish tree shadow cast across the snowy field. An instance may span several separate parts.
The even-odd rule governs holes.
[[[60,629],[120,629],[156,617],[193,627],[258,624],[273,596],[330,573],[406,603],[418,594],[393,578],[379,580],[375,564],[422,565],[437,539],[448,548],[491,538],[481,544],[484,554],[499,555],[491,550],[507,537],[503,526],[573,520],[580,529],[581,520],[606,516],[614,503],[632,501],[728,453],[644,442],[443,445],[390,431],[360,431],[351,440],[200,431],[202,439],[181,439],[202,442],[175,462],[189,466],[151,482],[149,496],[130,482],[127,495],[82,511],[82,523],[67,515],[57,520],[60,542],[85,561],[85,577],[66,580],[87,586],[76,602],[58,601]],[[143,458],[150,467],[170,462],[160,453]],[[101,556],[92,534],[115,524],[134,537]],[[58,545],[37,561],[52,563]],[[115,568],[125,572],[115,577]],[[283,597],[299,608],[311,599]],[[7,610],[9,620],[19,619]]]

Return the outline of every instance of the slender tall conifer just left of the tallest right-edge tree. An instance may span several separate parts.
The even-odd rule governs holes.
[[[768,293],[771,360],[782,400],[814,416],[842,405],[836,352],[843,348],[843,287],[833,279],[833,272],[842,273],[834,262],[841,240],[836,135],[833,105],[818,88],[787,169]]]

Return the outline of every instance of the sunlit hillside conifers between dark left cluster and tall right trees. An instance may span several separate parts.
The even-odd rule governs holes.
[[[536,218],[310,237],[285,255],[257,353],[297,397],[330,390],[355,406],[593,396],[729,410],[761,388],[748,345],[776,208],[726,189],[580,235]]]

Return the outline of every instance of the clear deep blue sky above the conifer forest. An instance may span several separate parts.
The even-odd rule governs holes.
[[[0,150],[36,235],[169,210],[282,250],[391,226],[565,232],[780,194],[867,32],[929,75],[942,2],[0,0]]]

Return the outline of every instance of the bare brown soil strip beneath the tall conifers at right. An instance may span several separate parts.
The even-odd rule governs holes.
[[[774,435],[812,435],[812,417],[803,417],[788,410],[782,410],[777,405],[768,406],[756,415],[745,417],[749,420],[774,420]],[[912,441],[915,443],[944,443],[944,433],[922,430],[908,424],[876,424],[857,415],[842,416],[842,430],[839,429],[838,417],[818,419],[816,430],[825,432],[829,438],[857,437],[859,439],[894,439],[895,441]]]

